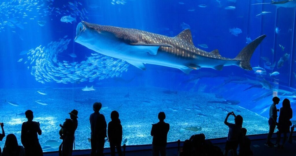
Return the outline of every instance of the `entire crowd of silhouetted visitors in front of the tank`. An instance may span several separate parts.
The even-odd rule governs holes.
[[[292,142],[292,132],[295,125],[292,126],[292,109],[290,101],[285,98],[280,109],[276,108],[280,99],[274,97],[273,103],[269,109],[269,132],[265,145],[268,147],[283,148],[287,140],[287,133],[291,132],[288,137],[288,142]],[[119,119],[119,113],[117,111],[111,112],[111,121],[107,123],[105,116],[100,114],[99,111],[102,108],[102,104],[96,102],[93,104],[94,113],[89,117],[91,125],[91,156],[103,156],[105,138],[110,142],[111,156],[115,156],[115,149],[119,156],[122,156],[121,142],[122,142],[122,125]],[[279,120],[277,122],[277,112],[279,112]],[[75,149],[75,131],[78,127],[78,111],[73,110],[69,113],[70,119],[65,119],[65,122],[61,125],[59,135],[62,139],[62,143],[59,146],[60,156],[72,155],[73,145]],[[40,129],[40,123],[33,121],[33,111],[27,110],[25,116],[28,121],[22,124],[21,130],[21,142],[19,145],[17,138],[14,134],[8,134],[6,137],[5,145],[0,156],[42,156],[43,151],[40,146],[38,135],[42,134]],[[228,122],[229,116],[234,116],[234,124]],[[160,112],[158,114],[159,122],[152,124],[151,136],[152,141],[152,155],[153,156],[166,156],[167,136],[170,130],[170,124],[165,123],[165,113]],[[195,134],[190,139],[184,141],[183,148],[179,151],[180,156],[203,156],[203,155],[239,155],[239,156],[252,156],[253,152],[250,148],[251,141],[246,136],[247,129],[243,128],[243,118],[240,115],[235,115],[234,112],[229,112],[224,120],[224,124],[229,127],[227,141],[225,145],[224,154],[221,149],[214,146],[209,140],[205,140],[204,134]],[[5,137],[4,123],[0,123],[2,133],[0,133],[0,141]],[[291,127],[292,126],[292,127]],[[275,129],[278,129],[276,144],[273,144],[270,140]],[[281,134],[283,134],[283,141],[280,144]],[[239,147],[239,150],[237,150]],[[238,151],[238,153],[237,153]]]

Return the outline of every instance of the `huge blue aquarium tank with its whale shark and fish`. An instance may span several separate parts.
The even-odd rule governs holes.
[[[73,109],[75,147],[90,149],[94,102],[107,123],[119,112],[127,145],[152,143],[160,111],[168,142],[226,137],[231,111],[248,134],[267,133],[273,96],[295,110],[295,3],[2,0],[0,122],[21,144],[32,110],[45,152]]]

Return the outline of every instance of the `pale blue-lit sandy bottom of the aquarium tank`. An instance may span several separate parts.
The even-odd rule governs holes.
[[[119,112],[123,126],[123,140],[128,145],[151,144],[150,135],[153,123],[157,123],[160,111],[166,114],[165,122],[170,124],[168,142],[185,140],[193,134],[204,133],[206,139],[227,137],[228,127],[223,121],[227,111],[234,111],[244,118],[243,127],[247,134],[268,132],[268,119],[237,105],[208,103],[209,101],[223,101],[215,94],[202,92],[168,91],[154,87],[103,87],[96,91],[82,91],[81,88],[47,88],[47,89],[0,89],[0,122],[4,122],[6,134],[16,135],[19,144],[21,126],[26,118],[24,112],[28,109],[34,112],[34,121],[40,122],[42,135],[39,136],[44,151],[57,150],[59,139],[59,124],[69,117],[70,111],[78,110],[78,128],[75,132],[76,149],[91,147],[89,115],[93,113],[92,104],[101,102],[101,114],[107,123],[111,120],[113,110]],[[36,91],[42,91],[41,95]],[[12,106],[7,101],[18,104]],[[43,104],[38,104],[39,101]],[[19,115],[17,115],[19,114]],[[234,122],[233,116],[229,117]],[[185,127],[201,127],[200,131],[180,132]],[[5,138],[0,142],[3,148]],[[109,143],[105,143],[109,147]]]

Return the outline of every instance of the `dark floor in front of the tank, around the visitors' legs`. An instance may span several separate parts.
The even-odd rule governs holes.
[[[293,134],[293,140],[296,141],[296,133]],[[276,134],[273,135],[276,137]],[[266,134],[249,136],[252,140],[251,149],[254,152],[254,156],[295,156],[296,155],[296,143],[286,143],[284,148],[267,147],[264,145],[266,141]],[[213,144],[219,146],[221,150],[224,150],[226,138],[210,139]],[[275,138],[271,140],[275,143]],[[181,143],[182,145],[182,143]],[[176,156],[178,154],[177,142],[168,143],[167,156]],[[126,147],[126,156],[151,156],[151,145],[139,145]],[[105,156],[110,156],[110,150],[107,148],[104,150]],[[89,155],[90,150],[77,150],[73,152],[73,155],[86,156]],[[55,156],[57,152],[46,152],[44,156]]]

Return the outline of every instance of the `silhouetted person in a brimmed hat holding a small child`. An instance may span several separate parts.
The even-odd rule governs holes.
[[[63,128],[62,127],[62,131],[63,131],[63,135],[61,136],[63,139],[62,142],[62,151],[61,151],[61,155],[62,156],[72,156],[72,152],[73,152],[73,144],[74,144],[74,140],[75,140],[75,131],[78,127],[78,111],[73,109],[73,111],[71,111],[70,113],[70,119],[72,120],[72,123],[69,122],[68,119],[65,120],[65,122],[69,122],[69,124],[67,125],[67,127],[65,126]]]

